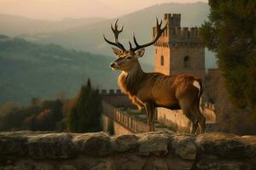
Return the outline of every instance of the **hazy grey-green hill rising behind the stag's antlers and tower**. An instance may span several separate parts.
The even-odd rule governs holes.
[[[162,19],[165,13],[182,14],[182,26],[201,26],[204,20],[207,20],[209,6],[207,3],[164,3],[120,16],[118,17],[120,20],[119,25],[125,26],[120,40],[125,42],[126,47],[128,47],[128,41],[131,40],[131,32],[135,31],[139,42],[150,41],[152,27],[155,25],[155,17]],[[103,41],[102,33],[106,34],[107,37],[113,37],[110,31],[110,23],[113,23],[114,20],[116,19],[103,20],[87,26],[69,29],[68,31],[33,36],[27,35],[26,38],[37,42],[54,42],[66,48],[86,50],[91,53],[113,55],[108,44]],[[147,49],[142,60],[152,65],[154,60],[152,47]],[[207,68],[215,66],[213,54],[207,52],[206,60]]]

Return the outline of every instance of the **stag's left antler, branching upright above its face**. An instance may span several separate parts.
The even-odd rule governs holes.
[[[114,42],[109,41],[109,40],[105,37],[104,34],[103,34],[103,37],[104,37],[104,40],[105,40],[106,42],[110,43],[111,45],[113,45],[113,46],[115,46],[115,47],[117,47],[117,48],[119,48],[119,49],[121,49],[122,51],[125,51],[125,47],[123,46],[123,44],[121,44],[121,43],[119,42],[119,33],[123,31],[124,26],[122,26],[122,28],[121,28],[120,30],[118,30],[118,25],[117,25],[118,21],[119,21],[119,20],[116,20],[116,21],[114,22],[114,27],[113,27],[113,25],[111,24],[111,30],[113,31],[113,35],[114,35]]]

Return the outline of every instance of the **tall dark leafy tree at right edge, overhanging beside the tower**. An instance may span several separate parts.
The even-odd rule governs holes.
[[[209,0],[209,5],[203,41],[217,54],[232,103],[256,116],[256,1]]]

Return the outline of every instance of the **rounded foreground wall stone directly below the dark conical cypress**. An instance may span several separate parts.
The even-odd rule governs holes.
[[[73,137],[75,148],[88,156],[108,156],[113,144],[108,133],[84,133]]]

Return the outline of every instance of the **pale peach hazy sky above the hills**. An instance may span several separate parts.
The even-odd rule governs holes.
[[[0,14],[33,19],[116,17],[158,3],[195,3],[207,0],[0,0]]]

